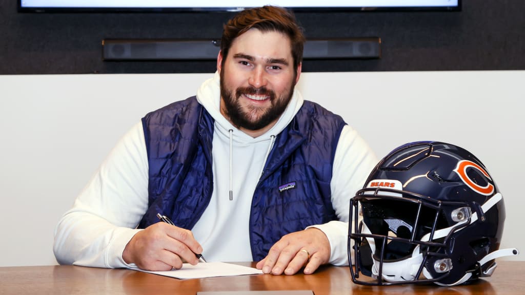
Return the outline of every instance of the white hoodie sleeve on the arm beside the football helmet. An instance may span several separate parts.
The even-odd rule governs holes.
[[[330,264],[348,265],[348,222],[350,198],[363,187],[366,178],[377,164],[374,152],[349,125],[341,132],[333,163],[332,206],[339,220],[314,225],[330,242]]]

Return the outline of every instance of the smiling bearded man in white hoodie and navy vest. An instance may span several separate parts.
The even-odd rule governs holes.
[[[57,261],[169,270],[202,254],[274,275],[348,265],[349,200],[376,158],[295,89],[303,44],[280,7],[229,20],[214,78],[146,114],[62,216]]]

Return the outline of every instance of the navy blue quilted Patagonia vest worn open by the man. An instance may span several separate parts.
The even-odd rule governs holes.
[[[213,191],[214,120],[195,97],[177,101],[142,119],[149,161],[149,208],[139,228],[157,213],[192,229]],[[335,148],[344,121],[304,101],[276,137],[251,202],[249,235],[254,261],[283,235],[337,220],[330,201]]]

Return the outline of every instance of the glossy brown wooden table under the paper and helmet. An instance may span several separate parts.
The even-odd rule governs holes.
[[[243,265],[250,265],[247,262]],[[251,264],[254,265],[253,263]],[[468,286],[354,285],[348,267],[321,267],[313,275],[252,275],[179,280],[128,269],[79,266],[0,267],[0,294],[196,294],[197,291],[312,290],[326,294],[525,294],[525,261],[499,261],[490,278]]]

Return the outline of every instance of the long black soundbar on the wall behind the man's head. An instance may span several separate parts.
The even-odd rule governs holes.
[[[213,60],[220,40],[103,39],[104,61]],[[304,44],[303,59],[381,58],[381,38],[311,39]]]

